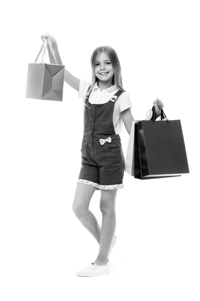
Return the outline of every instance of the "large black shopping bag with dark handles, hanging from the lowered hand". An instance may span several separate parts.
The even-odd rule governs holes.
[[[134,124],[134,178],[178,177],[189,173],[180,120],[141,120]]]

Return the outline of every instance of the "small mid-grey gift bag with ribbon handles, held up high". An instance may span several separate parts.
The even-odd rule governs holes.
[[[43,63],[47,43],[56,64]],[[43,50],[43,52],[42,52]],[[36,63],[42,52],[42,62]],[[57,63],[54,48],[51,40],[45,39],[38,53],[35,63],[28,66],[26,98],[35,98],[42,100],[63,100],[65,66]]]

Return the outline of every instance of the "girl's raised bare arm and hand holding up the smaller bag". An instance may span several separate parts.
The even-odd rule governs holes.
[[[63,65],[62,61],[61,61],[61,57],[58,51],[58,45],[56,40],[49,34],[49,33],[45,33],[41,36],[41,39],[44,41],[45,38],[50,38],[51,42],[52,42],[52,46],[54,48],[54,52],[55,52],[55,57],[57,59],[58,64]],[[56,64],[54,57],[51,53],[50,47],[49,47],[49,43],[47,44],[47,49],[49,52],[49,59],[50,62],[52,64]],[[67,71],[65,69],[65,74],[64,74],[64,81],[70,85],[72,88],[74,88],[75,90],[79,91],[79,84],[80,84],[80,78],[76,78],[75,76],[73,76],[69,71]]]

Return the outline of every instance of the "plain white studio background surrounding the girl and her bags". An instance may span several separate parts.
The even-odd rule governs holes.
[[[1,292],[7,300],[199,301],[198,1],[6,2],[1,19]],[[124,173],[111,273],[78,277],[99,245],[72,211],[81,168],[82,99],[25,97],[28,64],[49,32],[65,68],[92,80],[98,46],[115,49],[135,120],[158,97],[180,119],[189,174]],[[41,57],[37,63],[41,62]],[[50,62],[48,51],[43,62]],[[121,135],[126,158],[129,134]],[[90,202],[99,224],[100,191]]]

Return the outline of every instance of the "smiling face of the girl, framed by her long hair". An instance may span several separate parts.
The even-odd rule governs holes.
[[[105,52],[101,52],[97,55],[95,61],[94,73],[96,77],[101,81],[110,81],[114,75],[114,69],[109,59],[108,55]],[[106,74],[101,74],[106,73]]]

